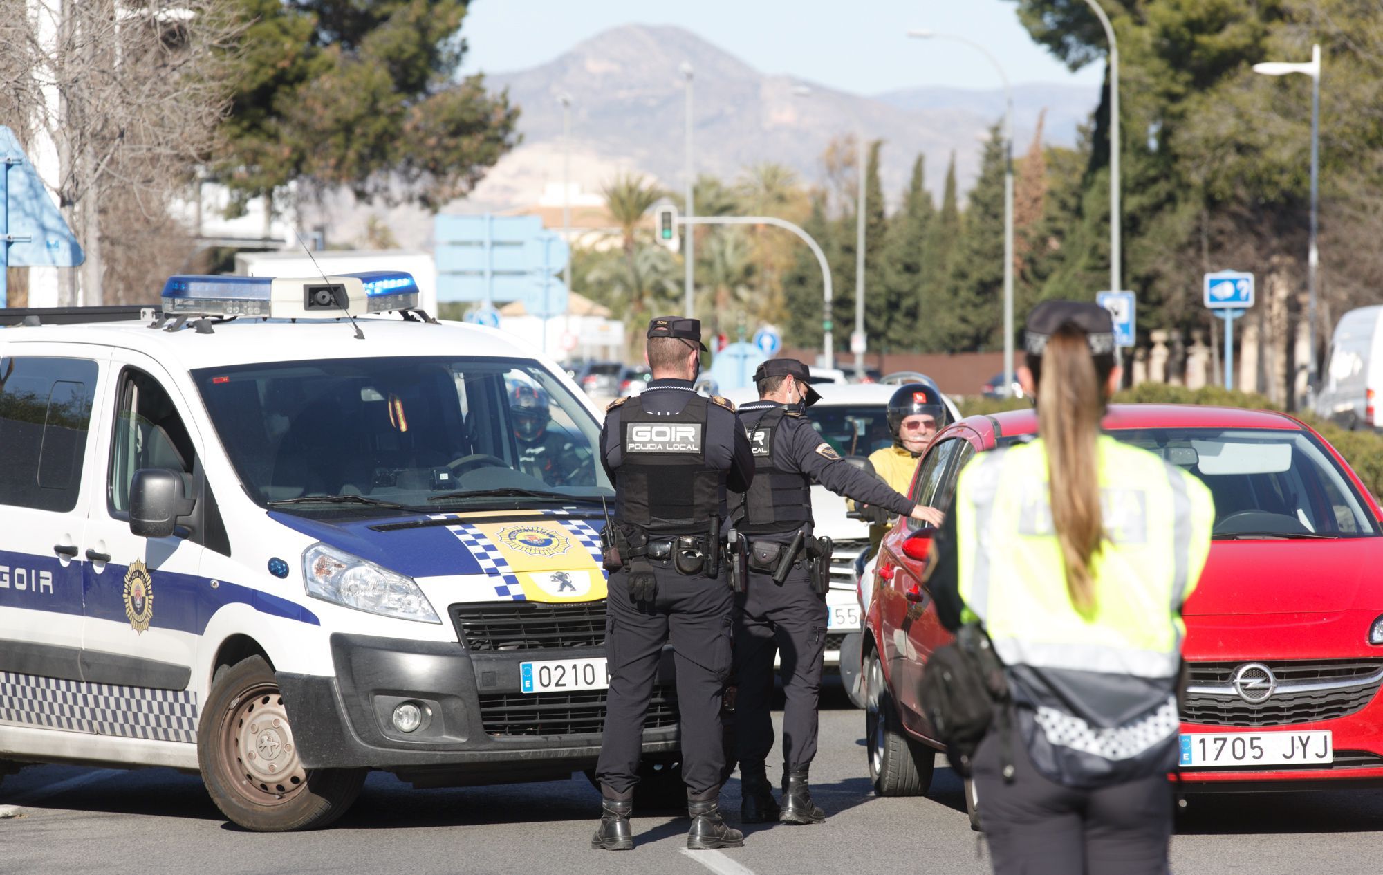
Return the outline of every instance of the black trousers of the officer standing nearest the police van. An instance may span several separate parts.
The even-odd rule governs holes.
[[[725,768],[721,696],[730,676],[730,613],[734,598],[721,577],[686,577],[654,566],[654,602],[629,598],[629,573],[610,573],[606,601],[606,658],[610,691],[596,778],[618,796],[633,792],[643,719],[653,695],[662,647],[672,644],[682,717],[682,779],[687,793],[708,799],[721,791]]]

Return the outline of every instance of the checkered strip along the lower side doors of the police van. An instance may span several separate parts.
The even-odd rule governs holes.
[[[0,671],[0,721],[196,743],[196,694]]]

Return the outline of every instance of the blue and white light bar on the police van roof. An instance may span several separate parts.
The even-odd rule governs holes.
[[[418,282],[401,270],[303,278],[177,276],[163,284],[163,313],[336,318],[414,309],[418,296]]]

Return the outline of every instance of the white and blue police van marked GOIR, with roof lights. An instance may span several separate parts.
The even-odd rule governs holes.
[[[159,310],[0,310],[0,774],[196,770],[230,820],[279,831],[339,817],[371,768],[595,766],[596,417],[416,291],[173,277]],[[676,721],[660,683],[665,782]]]

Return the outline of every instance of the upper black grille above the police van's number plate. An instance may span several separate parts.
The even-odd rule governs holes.
[[[604,599],[452,605],[448,612],[472,653],[604,647]]]

